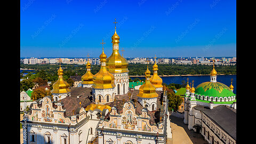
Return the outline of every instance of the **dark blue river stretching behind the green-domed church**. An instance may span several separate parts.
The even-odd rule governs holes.
[[[130,77],[131,79],[134,79],[136,77]],[[145,79],[145,77],[137,77],[139,79]],[[210,82],[210,75],[207,76],[164,76],[161,77],[163,79],[163,83],[166,84],[182,84],[182,81],[187,82],[187,78],[189,78],[189,85],[191,81],[194,80],[194,87],[196,88],[197,85],[203,83],[203,82]],[[223,83],[227,86],[230,86],[231,84],[231,78],[233,78],[232,85],[234,86],[234,93],[236,94],[236,75],[217,75],[217,82]]]

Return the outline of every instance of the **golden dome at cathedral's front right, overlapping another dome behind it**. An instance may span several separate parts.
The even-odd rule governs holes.
[[[137,96],[140,98],[158,97],[158,94],[156,93],[156,87],[153,84],[151,84],[151,82],[149,81],[150,71],[148,70],[148,68],[145,74],[146,74],[146,82],[140,86],[139,93]]]

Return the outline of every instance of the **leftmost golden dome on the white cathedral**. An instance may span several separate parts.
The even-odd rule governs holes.
[[[59,78],[57,80],[57,82],[55,82],[52,87],[53,89],[51,90],[51,93],[67,93],[70,92],[69,84],[67,82],[65,82],[62,78],[63,75],[63,70],[61,69],[61,67],[58,69],[58,75]]]

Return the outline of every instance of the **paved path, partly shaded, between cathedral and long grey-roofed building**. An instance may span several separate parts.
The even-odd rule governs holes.
[[[170,116],[173,144],[207,143],[203,136],[193,130],[188,130],[188,125],[183,123],[183,118]]]

